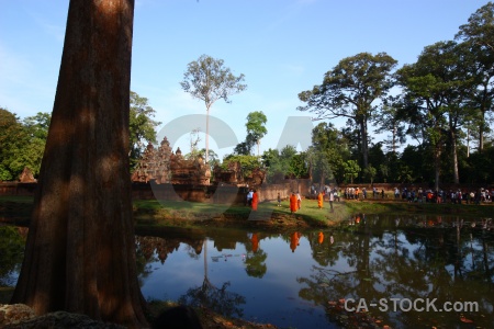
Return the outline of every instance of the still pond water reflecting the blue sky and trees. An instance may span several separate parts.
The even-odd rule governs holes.
[[[136,250],[146,298],[279,328],[494,328],[493,230],[487,218],[355,215],[287,234],[138,230]],[[19,263],[1,258],[0,284],[15,284]]]

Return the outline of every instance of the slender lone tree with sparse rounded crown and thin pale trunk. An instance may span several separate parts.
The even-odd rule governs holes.
[[[205,158],[210,152],[210,110],[217,100],[229,103],[229,97],[247,89],[243,84],[244,75],[234,76],[229,68],[224,67],[223,59],[215,59],[207,55],[201,55],[198,60],[189,63],[183,73],[182,89],[192,98],[204,102],[206,107],[205,132]]]

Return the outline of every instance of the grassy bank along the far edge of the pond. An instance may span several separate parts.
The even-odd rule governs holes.
[[[0,217],[27,217],[31,214],[33,197],[0,196]],[[407,203],[392,198],[369,198],[366,201],[343,201],[334,203],[334,212],[329,212],[329,202],[324,207],[317,207],[317,201],[303,200],[302,207],[291,214],[289,201],[281,206],[277,202],[262,202],[257,212],[244,205],[213,204],[211,202],[135,200],[133,202],[134,218],[139,226],[191,226],[214,220],[220,223],[265,222],[308,227],[330,226],[348,218],[352,214],[430,214],[458,215],[465,217],[492,217],[494,204],[431,204]]]

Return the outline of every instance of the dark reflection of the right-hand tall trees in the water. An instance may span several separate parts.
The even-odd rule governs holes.
[[[346,327],[378,322],[449,328],[472,322],[490,328],[494,324],[493,235],[486,229],[486,219],[483,229],[461,218],[445,223],[442,217],[423,216],[406,223],[401,218],[386,222],[357,215],[341,227],[335,246],[316,243],[313,236],[313,257],[321,266],[314,265],[308,277],[297,279],[305,285],[300,295],[325,305],[329,320]],[[340,258],[346,260],[346,270],[334,268]],[[445,302],[478,302],[480,311],[392,311],[392,297],[412,302],[437,298],[438,310]],[[343,304],[347,298],[356,300],[351,306],[360,298],[368,306],[379,306],[385,298],[389,308],[349,313]],[[417,305],[425,307],[426,303]]]

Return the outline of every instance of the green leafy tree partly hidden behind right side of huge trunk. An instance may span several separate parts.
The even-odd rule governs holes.
[[[156,143],[155,127],[160,122],[154,121],[156,111],[148,104],[146,98],[139,97],[131,91],[131,115],[130,115],[130,143],[131,143],[131,166],[141,158],[145,143]]]

